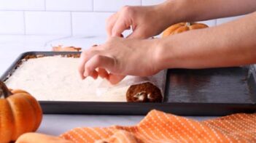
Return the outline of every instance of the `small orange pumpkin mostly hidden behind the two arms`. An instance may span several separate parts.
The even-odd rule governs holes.
[[[177,23],[175,25],[171,25],[166,30],[164,30],[162,37],[174,35],[177,33],[182,33],[187,30],[201,29],[201,28],[208,28],[208,25],[205,25],[203,23]]]

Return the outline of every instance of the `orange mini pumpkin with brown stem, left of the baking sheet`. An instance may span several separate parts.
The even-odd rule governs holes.
[[[9,90],[0,81],[0,143],[12,142],[21,134],[36,131],[42,121],[39,103],[23,90]]]

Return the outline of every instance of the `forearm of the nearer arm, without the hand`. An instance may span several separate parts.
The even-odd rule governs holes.
[[[214,68],[256,63],[256,13],[213,28],[158,40],[164,68]]]

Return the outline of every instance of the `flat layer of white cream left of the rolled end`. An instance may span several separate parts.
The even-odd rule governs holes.
[[[28,91],[39,101],[126,102],[128,85],[112,88],[101,78],[82,80],[78,62],[78,58],[61,56],[30,59],[5,83],[11,89]]]

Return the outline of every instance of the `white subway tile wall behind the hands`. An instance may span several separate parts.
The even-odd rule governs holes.
[[[0,0],[0,35],[102,36],[106,34],[106,18],[121,7],[163,1]],[[226,20],[205,23],[214,26]]]

